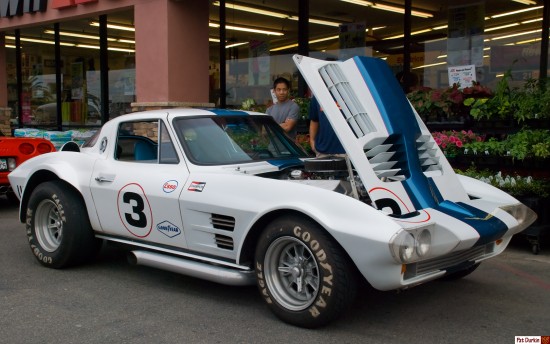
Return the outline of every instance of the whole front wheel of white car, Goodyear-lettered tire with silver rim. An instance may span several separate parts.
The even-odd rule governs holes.
[[[317,223],[287,216],[271,222],[255,254],[258,288],[281,320],[316,328],[354,301],[357,272],[343,249]]]

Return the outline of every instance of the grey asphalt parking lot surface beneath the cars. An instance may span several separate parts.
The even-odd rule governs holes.
[[[514,343],[550,335],[550,247],[518,238],[455,282],[362,291],[317,330],[282,323],[255,287],[133,266],[112,247],[95,263],[42,267],[18,209],[0,197],[0,343]]]

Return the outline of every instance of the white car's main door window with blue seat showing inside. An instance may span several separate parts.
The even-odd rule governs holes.
[[[117,133],[115,159],[158,163],[159,120],[121,123]]]

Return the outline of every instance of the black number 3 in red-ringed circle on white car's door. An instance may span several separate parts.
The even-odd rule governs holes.
[[[153,229],[153,212],[145,191],[137,183],[126,184],[118,192],[118,215],[126,229],[144,238]]]

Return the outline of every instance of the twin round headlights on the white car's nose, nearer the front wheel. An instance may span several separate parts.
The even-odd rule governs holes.
[[[390,240],[390,251],[399,263],[411,263],[425,257],[432,245],[432,234],[426,228],[402,229]]]

